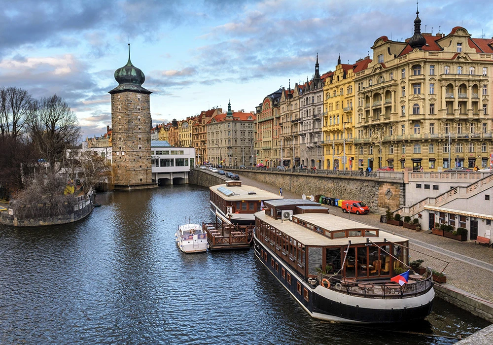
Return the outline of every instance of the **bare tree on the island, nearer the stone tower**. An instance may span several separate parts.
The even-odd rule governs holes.
[[[62,168],[69,147],[76,146],[80,126],[65,100],[53,95],[41,99],[39,108],[29,117],[29,135],[40,157],[49,163],[52,173]]]

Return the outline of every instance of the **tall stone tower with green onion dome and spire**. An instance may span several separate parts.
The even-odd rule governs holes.
[[[115,71],[118,86],[111,95],[113,182],[115,189],[157,187],[151,171],[149,95],[144,73],[130,61]]]

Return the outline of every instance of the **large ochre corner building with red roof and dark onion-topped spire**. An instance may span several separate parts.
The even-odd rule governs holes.
[[[419,16],[414,23],[405,42],[378,38],[373,61],[355,74],[358,165],[489,166],[492,40],[461,27],[422,34]]]

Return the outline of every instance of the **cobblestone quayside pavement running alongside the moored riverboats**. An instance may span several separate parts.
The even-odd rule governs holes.
[[[241,176],[241,180],[247,185],[257,186],[273,193],[279,193],[279,187],[258,182]],[[301,196],[283,191],[284,198],[300,199]],[[493,248],[475,244],[473,241],[459,242],[453,239],[428,234],[428,231],[415,231],[380,223],[379,214],[347,214],[339,207],[330,207],[330,213],[344,218],[378,227],[384,231],[409,239],[409,247],[419,250],[421,253],[411,250],[411,259],[423,259],[423,265],[441,271],[446,263],[427,255],[432,255],[449,262],[445,269],[447,283],[457,286],[476,296],[493,302]]]

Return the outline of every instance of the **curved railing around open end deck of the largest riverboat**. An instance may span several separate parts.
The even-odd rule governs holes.
[[[404,285],[391,282],[390,279],[379,279],[371,282],[365,280],[356,280],[354,278],[345,278],[342,276],[317,275],[318,284],[340,293],[375,299],[398,299],[409,298],[423,295],[433,286],[431,279],[431,270],[426,269],[426,273],[419,280],[411,280]],[[328,280],[329,284],[325,280]],[[323,282],[322,282],[323,280]],[[327,286],[328,285],[328,286]]]

